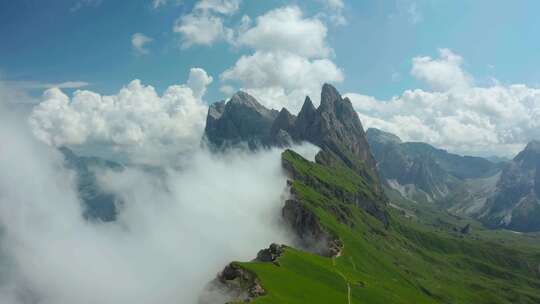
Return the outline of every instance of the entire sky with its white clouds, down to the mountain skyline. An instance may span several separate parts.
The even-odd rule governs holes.
[[[540,139],[538,11],[532,0],[1,1],[0,79],[33,96],[34,132],[57,145],[194,143],[207,105],[235,90],[295,112],[330,82],[366,128],[512,156]]]

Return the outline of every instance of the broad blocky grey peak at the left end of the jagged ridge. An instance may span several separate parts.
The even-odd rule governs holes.
[[[237,92],[229,102],[210,106],[205,137],[216,148],[247,143],[257,149],[265,145],[277,116],[277,111],[265,108],[251,95]]]

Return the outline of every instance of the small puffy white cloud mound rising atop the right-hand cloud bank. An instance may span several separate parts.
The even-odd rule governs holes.
[[[466,89],[472,85],[472,77],[463,69],[463,58],[449,49],[439,49],[439,58],[415,57],[411,74],[425,81],[436,91]]]

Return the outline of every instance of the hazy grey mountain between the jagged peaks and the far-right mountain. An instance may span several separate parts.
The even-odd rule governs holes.
[[[464,180],[496,174],[500,164],[448,153],[422,142],[402,142],[394,134],[370,128],[369,145],[388,186],[419,201],[441,201],[461,189]]]

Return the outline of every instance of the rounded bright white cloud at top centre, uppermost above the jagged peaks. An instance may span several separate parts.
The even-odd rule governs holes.
[[[256,25],[240,35],[238,43],[256,50],[287,51],[305,57],[327,57],[327,29],[318,19],[304,18],[300,8],[287,6],[257,18]]]

